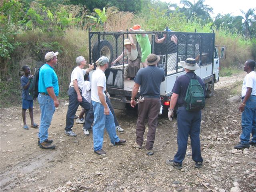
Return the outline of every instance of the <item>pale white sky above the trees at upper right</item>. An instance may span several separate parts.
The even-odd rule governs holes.
[[[162,1],[176,3],[178,5],[180,3],[180,0]],[[194,0],[190,0],[190,2],[194,3]],[[218,13],[222,15],[230,13],[232,16],[243,15],[240,9],[247,12],[250,8],[256,8],[256,0],[205,0],[204,4],[213,8],[212,17],[215,17]],[[180,5],[180,7],[182,6]]]

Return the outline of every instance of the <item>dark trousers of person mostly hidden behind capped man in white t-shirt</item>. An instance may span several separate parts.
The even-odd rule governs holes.
[[[110,111],[112,112],[112,114],[114,116],[114,122],[115,122],[116,127],[119,126],[119,123],[116,119],[116,114],[115,114],[114,108],[112,107],[110,99],[108,98],[108,96],[106,96],[106,103],[108,104],[108,107],[109,107]],[[84,122],[84,129],[89,130],[90,127],[92,126],[93,121],[94,121],[93,105],[91,104],[90,110],[86,114],[86,119],[85,119],[85,122]]]

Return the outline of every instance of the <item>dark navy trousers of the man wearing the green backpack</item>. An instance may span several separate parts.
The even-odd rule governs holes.
[[[201,111],[189,112],[185,107],[179,107],[177,110],[177,123],[178,151],[174,156],[174,162],[182,164],[186,155],[188,135],[190,135],[191,140],[192,159],[195,162],[203,162],[200,145]]]

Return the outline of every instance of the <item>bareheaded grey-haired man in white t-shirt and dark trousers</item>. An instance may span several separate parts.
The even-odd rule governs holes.
[[[68,90],[68,111],[66,115],[66,127],[65,134],[71,137],[75,137],[76,134],[72,131],[74,125],[74,116],[78,106],[82,106],[85,110],[90,109],[90,103],[82,96],[82,89],[84,86],[84,74],[88,74],[92,69],[92,65],[88,65],[89,68],[83,69],[86,66],[86,60],[84,57],[79,56],[76,58],[76,64],[78,65],[71,73],[71,82]]]

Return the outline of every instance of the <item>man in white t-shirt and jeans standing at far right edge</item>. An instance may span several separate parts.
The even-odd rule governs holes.
[[[234,146],[235,149],[256,146],[256,74],[254,72],[255,61],[247,60],[244,64],[244,71],[247,75],[242,86],[242,103],[239,111],[242,112],[242,134],[240,143]],[[250,134],[252,140],[250,141]]]

